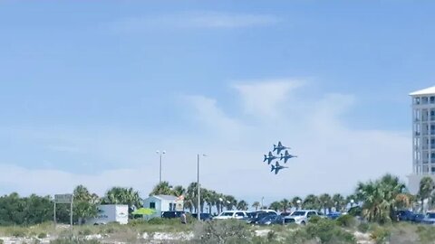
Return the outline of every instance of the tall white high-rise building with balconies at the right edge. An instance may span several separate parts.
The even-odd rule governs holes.
[[[412,174],[408,176],[411,193],[419,192],[420,180],[435,181],[435,87],[410,94],[412,98]]]

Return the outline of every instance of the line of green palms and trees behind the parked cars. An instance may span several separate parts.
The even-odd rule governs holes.
[[[406,189],[399,177],[385,174],[380,179],[366,183],[358,183],[353,194],[343,196],[339,193],[330,195],[309,194],[304,198],[294,196],[275,201],[269,206],[262,206],[260,202],[249,205],[229,194],[200,188],[200,202],[198,206],[198,184],[190,183],[187,188],[181,185],[171,186],[168,182],[157,184],[150,195],[184,196],[184,208],[190,212],[212,210],[220,213],[225,210],[247,211],[249,206],[258,210],[269,208],[275,211],[292,211],[297,209],[312,209],[318,211],[346,211],[350,207],[358,207],[361,215],[367,221],[389,222],[396,221],[395,211],[400,209],[420,209],[423,211],[423,202],[428,202],[429,209],[435,206],[435,183],[430,177],[423,177],[420,181],[420,190],[412,195]],[[112,187],[100,197],[89,192],[83,185],[78,185],[73,191],[73,221],[82,223],[83,220],[97,215],[99,204],[126,204],[129,212],[142,207],[142,199],[138,191],[132,188]],[[56,221],[69,222],[70,206],[56,204]],[[132,216],[131,216],[132,218]],[[0,197],[0,225],[33,225],[45,221],[53,221],[53,197],[32,194],[20,197],[14,192]]]

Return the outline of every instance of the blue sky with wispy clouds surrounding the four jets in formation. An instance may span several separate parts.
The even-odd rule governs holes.
[[[147,194],[162,148],[170,183],[194,181],[204,152],[205,186],[248,200],[349,193],[386,172],[405,179],[408,93],[435,75],[434,10],[430,1],[2,1],[0,168],[11,174],[0,192],[85,183]],[[261,161],[278,139],[300,157],[275,177]],[[337,169],[348,176],[331,181]]]

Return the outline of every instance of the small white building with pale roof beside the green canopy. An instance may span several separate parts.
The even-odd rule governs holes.
[[[143,200],[143,207],[156,211],[150,218],[161,217],[163,211],[183,211],[183,197],[171,195],[153,195]]]

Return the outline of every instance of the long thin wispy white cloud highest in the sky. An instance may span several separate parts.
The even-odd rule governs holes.
[[[116,31],[135,32],[152,28],[234,29],[268,26],[279,22],[279,18],[269,14],[202,12],[126,18],[111,23],[111,27]]]

